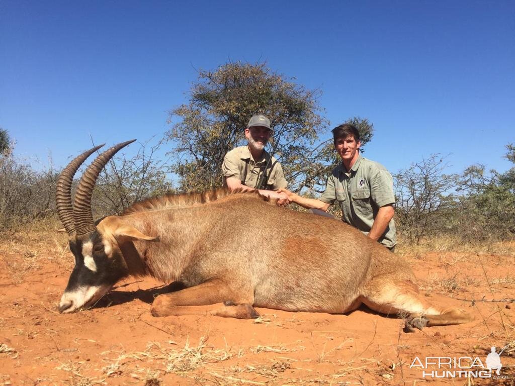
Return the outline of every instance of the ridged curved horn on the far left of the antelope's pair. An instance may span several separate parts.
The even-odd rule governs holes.
[[[68,235],[75,231],[72,208],[72,181],[80,165],[95,151],[105,144],[95,146],[93,149],[83,152],[68,164],[61,172],[57,180],[56,206],[57,215],[61,220]]]

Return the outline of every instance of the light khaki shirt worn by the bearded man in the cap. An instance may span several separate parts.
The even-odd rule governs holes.
[[[269,156],[265,150],[261,159],[254,161],[247,146],[232,149],[224,157],[224,164],[222,165],[224,186],[227,186],[227,179],[229,177],[234,177],[242,181],[243,185],[255,188],[261,178],[261,174],[265,170],[266,160]],[[285,188],[288,185],[284,178],[283,168],[274,157],[272,157],[268,165],[267,175],[269,176],[267,185],[269,190]]]

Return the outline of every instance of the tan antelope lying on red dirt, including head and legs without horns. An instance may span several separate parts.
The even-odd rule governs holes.
[[[253,306],[344,313],[363,303],[411,315],[417,327],[472,320],[426,304],[407,262],[353,227],[278,207],[257,193],[153,198],[77,234],[62,312],[92,304],[119,278],[150,275],[187,287],[158,296],[155,316],[253,318]],[[101,275],[107,279],[96,280]]]

